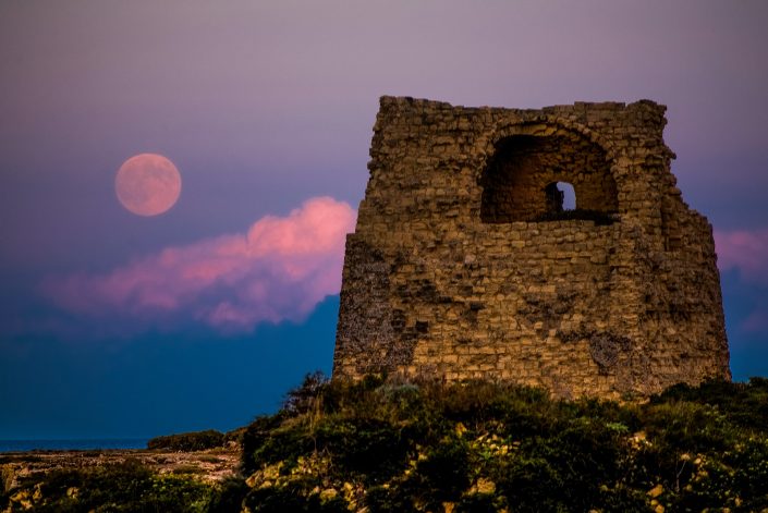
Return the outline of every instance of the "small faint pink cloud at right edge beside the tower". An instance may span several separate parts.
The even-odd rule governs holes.
[[[744,279],[768,284],[768,229],[715,231],[720,270],[737,268]]]

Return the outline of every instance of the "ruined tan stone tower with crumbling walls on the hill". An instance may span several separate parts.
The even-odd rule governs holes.
[[[608,398],[730,379],[711,227],[675,187],[665,110],[382,97],[334,378]]]

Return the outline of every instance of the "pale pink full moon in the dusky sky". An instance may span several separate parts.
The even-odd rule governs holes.
[[[123,207],[133,213],[157,216],[179,199],[181,174],[162,155],[134,155],[118,170],[114,191]]]

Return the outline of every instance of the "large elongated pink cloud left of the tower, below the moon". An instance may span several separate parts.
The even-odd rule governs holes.
[[[316,197],[287,217],[259,219],[245,234],[167,247],[106,274],[51,278],[42,291],[70,313],[142,325],[196,319],[245,331],[301,320],[339,292],[355,217],[348,204]]]

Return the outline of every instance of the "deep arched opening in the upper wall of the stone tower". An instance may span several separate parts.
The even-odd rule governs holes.
[[[480,185],[480,219],[488,223],[610,218],[619,208],[605,150],[571,132],[502,138]]]

